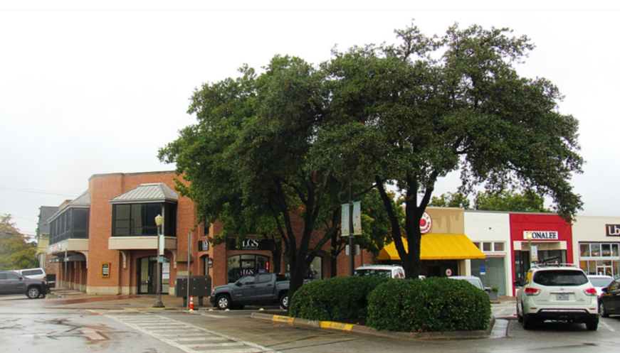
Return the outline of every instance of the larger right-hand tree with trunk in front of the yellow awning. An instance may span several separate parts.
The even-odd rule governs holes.
[[[569,184],[582,172],[577,119],[558,112],[562,95],[549,80],[520,77],[514,67],[534,48],[529,38],[458,25],[441,37],[416,26],[396,35],[399,45],[335,52],[324,67],[338,118],[331,134],[356,142],[358,170],[372,175],[382,195],[407,277],[419,274],[419,220],[438,178],[453,170],[461,171],[464,190],[532,189],[551,197],[566,219],[581,208]],[[340,148],[335,156],[354,153]],[[404,232],[388,184],[404,196]]]

